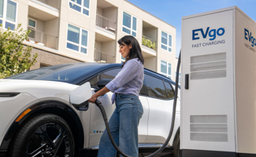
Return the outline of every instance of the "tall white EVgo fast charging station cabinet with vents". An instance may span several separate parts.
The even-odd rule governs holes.
[[[255,38],[236,6],[183,17],[181,157],[256,156]]]

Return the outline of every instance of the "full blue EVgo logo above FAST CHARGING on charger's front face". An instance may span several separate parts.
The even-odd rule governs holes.
[[[222,36],[224,35],[224,27],[220,27],[218,29],[211,29],[210,30],[210,27],[207,27],[206,29],[206,32],[203,31],[202,28],[199,28],[199,29],[195,29],[192,31],[192,39],[193,40],[198,40],[200,39],[200,36],[198,34],[202,34],[202,38],[206,38],[207,36],[210,37],[209,40],[214,40],[216,38],[216,36]]]

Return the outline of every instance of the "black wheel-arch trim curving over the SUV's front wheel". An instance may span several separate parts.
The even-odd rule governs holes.
[[[20,115],[27,109],[28,108],[25,108],[23,111],[20,111]],[[20,126],[22,126],[24,122],[30,119],[33,115],[44,112],[59,115],[66,121],[68,121],[69,125],[73,125],[73,127],[75,126],[76,129],[73,129],[76,130],[74,136],[76,137],[76,139],[79,139],[79,141],[76,141],[76,143],[80,144],[80,148],[83,148],[83,125],[76,111],[69,105],[56,100],[45,100],[32,104],[31,106],[29,106],[29,109],[31,109],[31,111],[29,111],[27,115],[24,115],[24,117],[20,119],[19,122],[15,122],[15,119],[17,119],[20,115],[17,115],[12,121],[11,125],[8,127],[9,129],[6,132],[5,137],[2,140],[0,150],[7,150],[9,148],[9,144],[12,141],[13,136],[15,135],[15,133],[17,133]],[[77,151],[79,151],[80,148],[77,148]]]

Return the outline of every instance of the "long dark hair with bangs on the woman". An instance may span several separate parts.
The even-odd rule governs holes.
[[[139,42],[137,41],[136,38],[134,38],[132,35],[125,35],[123,38],[120,38],[117,42],[121,46],[124,46],[124,44],[127,46],[132,44],[132,49],[130,50],[128,58],[126,58],[126,60],[124,61],[124,64],[128,60],[132,60],[133,58],[138,58],[138,60],[142,64],[144,64],[143,53],[141,53]],[[123,66],[124,66],[124,64],[123,64]]]

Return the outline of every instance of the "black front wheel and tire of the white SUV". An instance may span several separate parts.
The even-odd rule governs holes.
[[[13,139],[11,157],[73,157],[74,137],[58,115],[43,114],[29,119]]]

